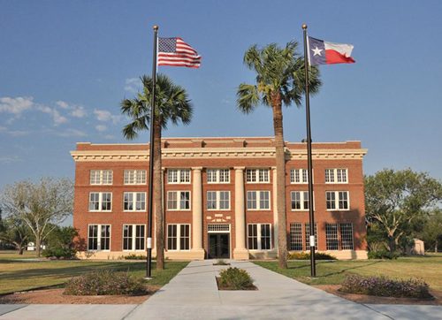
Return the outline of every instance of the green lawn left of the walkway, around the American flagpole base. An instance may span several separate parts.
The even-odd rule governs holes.
[[[34,256],[32,256],[34,257]],[[97,269],[129,271],[135,277],[146,275],[145,262],[125,261],[22,261],[16,255],[0,253],[0,294],[29,290],[42,286],[63,286],[72,277]],[[156,270],[152,263],[151,286],[164,286],[187,266],[187,262],[166,262],[165,269]]]

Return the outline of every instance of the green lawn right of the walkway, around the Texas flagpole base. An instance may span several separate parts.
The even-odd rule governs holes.
[[[389,278],[423,278],[431,288],[442,290],[442,255],[400,257],[397,260],[316,261],[317,278],[309,278],[309,261],[290,261],[288,269],[278,262],[257,261],[264,268],[309,285],[339,285],[349,273]]]

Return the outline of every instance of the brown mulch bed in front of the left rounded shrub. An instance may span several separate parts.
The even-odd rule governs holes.
[[[45,289],[0,296],[0,304],[141,304],[160,286],[149,286],[144,295],[65,295],[65,289]]]

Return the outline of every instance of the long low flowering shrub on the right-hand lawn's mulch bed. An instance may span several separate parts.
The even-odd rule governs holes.
[[[385,277],[348,275],[339,289],[344,293],[358,293],[396,298],[431,298],[429,286],[423,279],[393,280]]]

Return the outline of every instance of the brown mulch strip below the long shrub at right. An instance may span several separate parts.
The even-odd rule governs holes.
[[[442,305],[442,291],[430,290],[434,299],[416,299],[416,298],[394,298],[394,297],[377,297],[374,295],[342,293],[339,291],[340,285],[321,285],[315,286],[318,289],[324,290],[327,293],[338,295],[341,298],[369,304],[423,304],[423,305]]]

